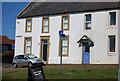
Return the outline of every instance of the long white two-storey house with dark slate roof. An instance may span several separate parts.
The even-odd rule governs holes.
[[[15,55],[59,64],[62,52],[63,64],[118,64],[119,22],[120,2],[31,2],[17,16]]]

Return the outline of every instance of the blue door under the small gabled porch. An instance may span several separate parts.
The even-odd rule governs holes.
[[[90,63],[90,46],[88,43],[83,43],[82,47],[82,63]]]

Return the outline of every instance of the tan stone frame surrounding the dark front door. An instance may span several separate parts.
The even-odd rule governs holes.
[[[49,49],[50,49],[50,36],[40,36],[40,58],[42,58],[42,39],[47,39],[48,40],[48,46],[47,46],[47,61],[45,63],[48,63],[48,58],[49,58]]]

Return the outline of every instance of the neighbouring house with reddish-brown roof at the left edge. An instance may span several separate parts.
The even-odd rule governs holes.
[[[0,47],[1,47],[1,51],[0,54],[5,53],[7,51],[11,51],[15,44],[15,40],[13,39],[9,39],[7,36],[2,36],[0,35]]]

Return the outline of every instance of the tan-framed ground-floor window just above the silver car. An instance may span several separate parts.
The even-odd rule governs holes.
[[[25,38],[24,53],[25,54],[31,54],[31,47],[32,47],[32,38],[31,37],[26,37]]]

